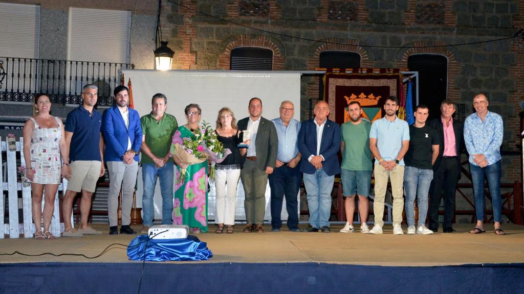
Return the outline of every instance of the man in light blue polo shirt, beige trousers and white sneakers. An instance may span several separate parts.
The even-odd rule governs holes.
[[[375,120],[369,132],[369,148],[375,156],[375,199],[373,212],[375,226],[369,233],[381,234],[384,226],[384,199],[388,179],[391,181],[393,195],[393,233],[402,235],[402,210],[404,198],[402,185],[404,182],[403,157],[409,148],[409,126],[405,120],[397,117],[398,99],[389,96],[384,103],[386,116]]]

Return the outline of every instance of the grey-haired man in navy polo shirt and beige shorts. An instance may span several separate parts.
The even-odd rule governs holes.
[[[91,198],[96,181],[105,173],[104,140],[100,133],[102,115],[93,107],[98,99],[98,87],[88,84],[82,87],[82,105],[69,112],[65,120],[65,142],[69,146],[71,179],[65,191],[62,204],[64,232],[62,236],[82,238],[83,235],[100,235],[88,225]],[[75,230],[71,224],[73,199],[82,192],[80,203],[80,228]]]

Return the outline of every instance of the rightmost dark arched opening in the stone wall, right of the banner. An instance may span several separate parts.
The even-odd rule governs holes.
[[[428,119],[439,117],[440,103],[447,96],[447,58],[436,54],[410,55],[408,68],[419,72],[419,104],[428,106]],[[413,93],[416,86],[413,83]],[[416,104],[417,101],[413,100],[413,109]]]

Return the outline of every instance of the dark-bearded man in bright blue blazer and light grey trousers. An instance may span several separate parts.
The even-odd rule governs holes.
[[[115,104],[102,115],[102,132],[105,140],[104,160],[109,172],[107,214],[111,235],[118,234],[118,194],[122,188],[121,234],[136,234],[129,227],[131,206],[138,173],[138,152],[142,144],[142,128],[138,112],[127,106],[129,89],[117,86],[113,91]]]

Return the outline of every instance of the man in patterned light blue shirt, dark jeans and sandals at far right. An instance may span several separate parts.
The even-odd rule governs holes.
[[[484,94],[473,98],[476,113],[469,115],[464,122],[464,141],[470,154],[470,173],[475,195],[477,224],[470,233],[479,234],[484,230],[484,177],[488,179],[489,193],[493,199],[493,219],[495,234],[504,235],[500,229],[500,145],[502,144],[504,126],[500,115],[488,111],[488,99]]]

